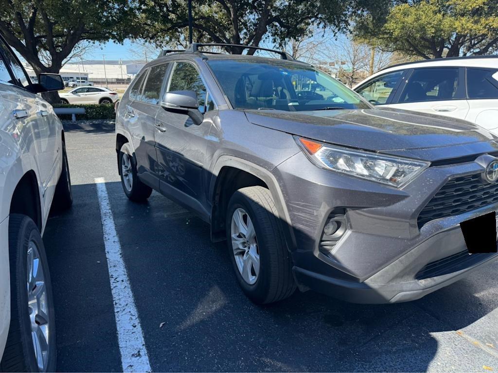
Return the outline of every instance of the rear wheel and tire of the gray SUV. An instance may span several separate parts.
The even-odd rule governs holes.
[[[121,185],[124,194],[135,202],[144,202],[152,193],[152,188],[143,184],[136,176],[136,160],[129,143],[124,143],[120,150]]]

